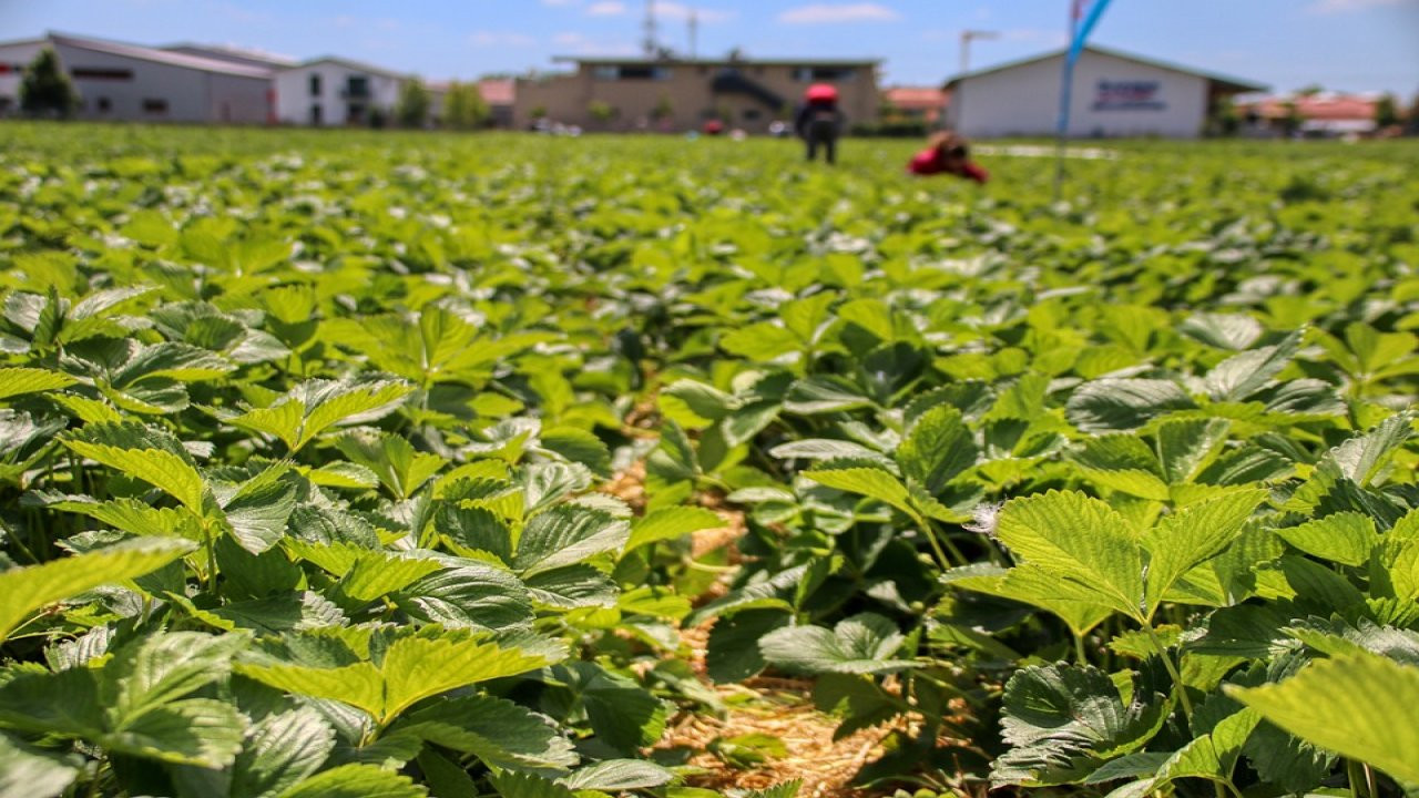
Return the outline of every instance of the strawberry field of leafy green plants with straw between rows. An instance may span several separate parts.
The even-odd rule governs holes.
[[[1419,149],[912,143],[0,126],[0,795],[1419,795]]]

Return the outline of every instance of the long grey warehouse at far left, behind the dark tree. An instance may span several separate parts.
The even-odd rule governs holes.
[[[123,122],[271,121],[271,68],[51,33],[0,44],[0,114],[20,105],[20,74],[51,47],[79,94],[77,116]]]

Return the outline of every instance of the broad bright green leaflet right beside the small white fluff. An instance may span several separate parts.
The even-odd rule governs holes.
[[[1128,523],[1080,493],[1015,498],[1000,511],[996,537],[1043,575],[1095,596],[1101,606],[1142,621],[1144,552]]]

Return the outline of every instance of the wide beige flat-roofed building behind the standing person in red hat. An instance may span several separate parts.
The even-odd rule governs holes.
[[[691,131],[710,119],[766,132],[792,122],[803,91],[837,87],[847,124],[877,119],[877,60],[556,58],[576,71],[519,78],[514,125],[538,118],[587,131]]]

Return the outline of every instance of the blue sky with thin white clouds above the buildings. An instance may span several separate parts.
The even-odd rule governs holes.
[[[691,6],[692,4],[692,6]],[[962,28],[998,31],[972,65],[1063,43],[1069,0],[658,0],[661,41],[701,55],[880,57],[885,80],[956,71]],[[45,30],[143,44],[335,53],[429,78],[552,68],[553,54],[634,54],[644,0],[0,0],[0,38]],[[1290,89],[1419,92],[1419,0],[1114,0],[1098,44]]]

